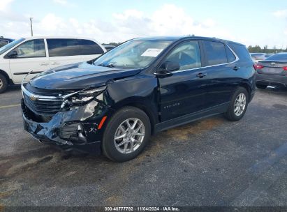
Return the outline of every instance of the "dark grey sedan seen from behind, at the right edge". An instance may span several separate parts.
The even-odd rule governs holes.
[[[287,87],[287,53],[270,56],[256,64],[256,86],[266,89],[267,86]]]

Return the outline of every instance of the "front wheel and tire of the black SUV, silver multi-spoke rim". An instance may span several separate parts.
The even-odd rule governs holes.
[[[124,107],[110,119],[103,134],[103,154],[117,162],[131,160],[145,148],[151,135],[151,124],[145,112]]]

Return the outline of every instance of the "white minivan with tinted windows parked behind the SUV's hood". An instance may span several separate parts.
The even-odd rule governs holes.
[[[68,37],[20,38],[0,48],[0,93],[44,70],[95,59],[106,52],[96,40]]]

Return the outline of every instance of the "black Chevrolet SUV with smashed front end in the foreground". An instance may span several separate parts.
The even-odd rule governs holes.
[[[130,160],[155,132],[214,114],[242,119],[254,74],[240,43],[136,38],[94,61],[47,70],[22,84],[24,128],[61,149]]]

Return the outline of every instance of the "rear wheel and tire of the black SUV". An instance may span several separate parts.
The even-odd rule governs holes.
[[[229,121],[239,121],[244,116],[249,103],[249,93],[243,87],[239,87],[231,99],[231,103],[225,114]]]

